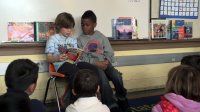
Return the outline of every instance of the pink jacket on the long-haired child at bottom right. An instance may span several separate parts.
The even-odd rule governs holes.
[[[164,97],[178,108],[180,112],[200,112],[200,102],[186,99],[174,93],[168,93]],[[152,112],[163,112],[160,104],[155,105]]]

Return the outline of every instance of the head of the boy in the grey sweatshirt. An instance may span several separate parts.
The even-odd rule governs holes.
[[[97,25],[97,17],[95,13],[91,10],[87,10],[81,17],[81,27],[83,34],[92,35],[94,33],[94,28]]]

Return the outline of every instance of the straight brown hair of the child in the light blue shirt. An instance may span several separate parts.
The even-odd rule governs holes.
[[[61,28],[74,28],[75,21],[70,13],[63,12],[58,14],[55,20],[56,32],[59,33]]]

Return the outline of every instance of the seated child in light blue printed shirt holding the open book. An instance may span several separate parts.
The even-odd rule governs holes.
[[[77,62],[76,64],[67,55],[69,48],[77,48],[77,39],[73,37],[74,26],[75,21],[70,13],[62,12],[58,14],[55,20],[56,34],[48,39],[45,49],[47,61],[53,63],[57,72],[66,75],[68,85],[66,85],[65,92],[60,98],[62,107],[74,101],[71,93],[71,84],[78,69],[95,69],[92,64],[86,62]]]

